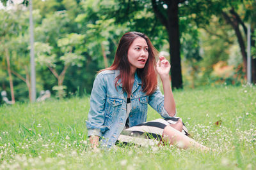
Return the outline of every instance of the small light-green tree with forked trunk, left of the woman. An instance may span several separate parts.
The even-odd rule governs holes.
[[[63,86],[63,80],[65,78],[65,74],[67,72],[68,67],[70,66],[83,66],[81,62],[84,58],[81,56],[83,53],[83,39],[84,35],[81,34],[67,34],[65,38],[58,39],[58,47],[61,49],[63,55],[58,58],[56,53],[52,53],[52,46],[49,43],[40,43],[36,42],[36,61],[39,62],[41,65],[45,65],[49,68],[49,70],[54,74],[54,76],[58,80],[58,85],[54,86],[52,89],[57,90],[57,96],[62,98],[65,97],[65,89],[67,87]],[[56,70],[56,63],[62,62],[63,69],[59,74]]]

